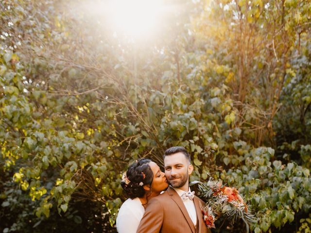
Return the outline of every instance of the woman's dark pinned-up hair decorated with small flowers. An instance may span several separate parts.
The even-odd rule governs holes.
[[[151,187],[154,174],[149,166],[150,162],[150,159],[140,159],[127,168],[126,177],[129,183],[122,180],[121,186],[130,199],[143,197],[145,194],[144,185]]]

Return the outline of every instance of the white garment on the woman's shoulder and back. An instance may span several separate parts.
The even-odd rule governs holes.
[[[136,233],[144,213],[145,208],[139,198],[124,201],[117,216],[118,233]]]

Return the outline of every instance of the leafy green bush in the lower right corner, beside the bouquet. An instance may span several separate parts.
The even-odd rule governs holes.
[[[254,230],[263,232],[271,225],[280,228],[292,222],[295,213],[311,209],[310,170],[295,163],[283,165],[273,157],[271,148],[249,150],[239,168],[220,175],[249,200],[250,210],[258,217]]]

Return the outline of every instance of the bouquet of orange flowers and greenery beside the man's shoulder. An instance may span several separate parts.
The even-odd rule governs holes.
[[[207,183],[199,184],[199,191],[206,200],[206,205],[201,208],[208,228],[215,228],[214,222],[221,216],[230,218],[233,223],[242,219],[247,233],[249,224],[256,222],[255,217],[247,212],[247,206],[236,188],[223,186],[222,181],[210,178]]]

